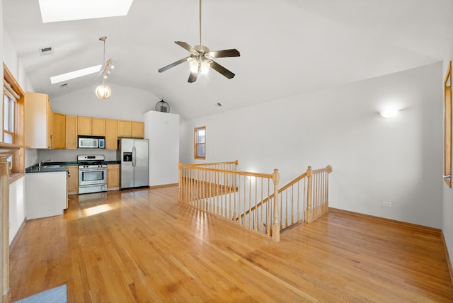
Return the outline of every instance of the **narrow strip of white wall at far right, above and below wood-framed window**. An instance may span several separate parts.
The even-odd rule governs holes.
[[[445,55],[443,64],[443,74],[447,73],[447,64],[453,59],[453,33],[450,38],[449,50]],[[443,120],[442,120],[443,121]],[[443,133],[443,129],[442,129]],[[443,154],[442,154],[443,159]],[[452,157],[453,161],[453,157]],[[451,162],[452,163],[452,162]],[[443,171],[442,171],[443,172]],[[450,261],[453,262],[453,189],[449,188],[444,182],[442,185],[443,193],[443,211],[442,211],[442,231],[444,233],[445,242],[447,243],[447,249],[450,257]]]

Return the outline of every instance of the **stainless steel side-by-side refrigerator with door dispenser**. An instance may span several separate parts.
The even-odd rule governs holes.
[[[120,189],[149,186],[149,140],[118,139]]]

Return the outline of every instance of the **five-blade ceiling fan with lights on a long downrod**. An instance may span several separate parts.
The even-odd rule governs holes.
[[[191,46],[186,42],[175,41],[177,45],[183,47],[185,50],[190,52],[188,57],[180,59],[172,64],[168,64],[166,67],[159,69],[159,73],[165,72],[167,69],[176,67],[183,62],[190,62],[190,75],[188,82],[193,83],[197,81],[197,76],[199,73],[205,73],[210,68],[219,72],[220,74],[226,76],[226,78],[231,79],[234,77],[234,74],[228,69],[222,67],[222,65],[215,62],[214,58],[224,58],[224,57],[239,57],[241,54],[236,49],[231,50],[215,50],[210,51],[205,45],[201,44],[201,0],[200,0],[200,45]]]

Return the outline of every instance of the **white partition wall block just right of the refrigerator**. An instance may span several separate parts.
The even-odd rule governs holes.
[[[179,115],[149,111],[143,120],[149,139],[149,185],[178,183]]]

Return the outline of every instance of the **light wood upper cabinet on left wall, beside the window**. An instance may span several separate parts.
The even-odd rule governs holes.
[[[45,93],[25,93],[25,146],[52,147],[52,108]]]

